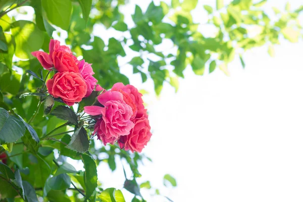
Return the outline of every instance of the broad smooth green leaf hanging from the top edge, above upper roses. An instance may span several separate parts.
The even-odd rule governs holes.
[[[72,16],[71,0],[43,0],[42,7],[51,23],[68,30]]]

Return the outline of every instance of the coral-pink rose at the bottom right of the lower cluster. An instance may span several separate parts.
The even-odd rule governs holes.
[[[151,137],[149,121],[145,117],[134,120],[135,126],[129,135],[121,136],[118,140],[120,148],[141,152]]]

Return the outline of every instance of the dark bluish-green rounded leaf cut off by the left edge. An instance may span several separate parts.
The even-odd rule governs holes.
[[[0,140],[15,142],[25,133],[23,120],[0,108]]]

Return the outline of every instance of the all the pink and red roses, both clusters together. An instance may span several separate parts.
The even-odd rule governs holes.
[[[98,105],[84,107],[84,112],[95,118],[94,132],[104,145],[118,142],[120,148],[141,152],[150,139],[151,132],[142,94],[132,85],[116,83],[106,91],[92,76],[91,64],[78,61],[71,49],[58,40],[49,43],[49,54],[33,52],[46,70],[55,70],[53,78],[46,81],[48,93],[60,97],[68,106],[81,102],[93,90],[101,91]],[[101,107],[100,107],[101,106]]]

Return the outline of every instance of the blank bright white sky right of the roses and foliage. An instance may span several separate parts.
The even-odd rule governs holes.
[[[130,2],[124,11],[149,4]],[[293,7],[302,3],[289,2]],[[203,4],[214,6],[215,1]],[[203,4],[193,12],[196,22],[206,15]],[[270,1],[267,6],[282,9],[285,4]],[[159,99],[151,82],[141,85],[140,77],[129,73],[132,68],[124,67],[131,84],[150,91],[144,100],[153,136],[143,151],[154,163],[140,168],[140,180],[150,180],[175,202],[302,201],[302,45],[282,40],[275,58],[266,47],[253,49],[244,55],[245,70],[238,59],[229,65],[230,77],[219,70],[200,77],[188,68],[179,91],[165,85]],[[99,167],[99,179],[122,187],[122,167],[118,163],[115,174],[103,174],[107,167]],[[177,188],[162,185],[166,173],[177,179]],[[122,191],[130,201],[132,195]],[[142,194],[147,201],[168,201]]]

